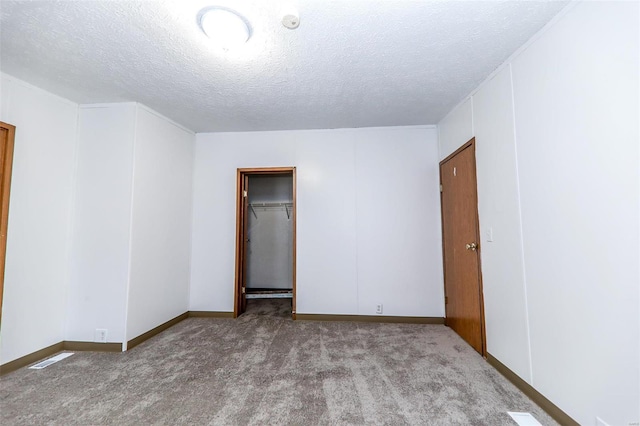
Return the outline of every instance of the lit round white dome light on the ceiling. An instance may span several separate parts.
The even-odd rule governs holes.
[[[240,46],[251,37],[251,26],[244,16],[224,7],[202,9],[200,28],[215,44],[223,48]]]

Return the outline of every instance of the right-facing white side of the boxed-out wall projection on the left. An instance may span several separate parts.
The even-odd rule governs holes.
[[[137,107],[127,340],[189,309],[193,144]]]

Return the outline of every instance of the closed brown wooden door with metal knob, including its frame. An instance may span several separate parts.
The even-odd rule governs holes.
[[[485,355],[475,140],[440,163],[446,324]]]

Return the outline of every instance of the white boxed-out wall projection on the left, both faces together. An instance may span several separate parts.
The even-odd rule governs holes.
[[[136,103],[83,105],[65,340],[126,343],[187,311],[194,134]]]

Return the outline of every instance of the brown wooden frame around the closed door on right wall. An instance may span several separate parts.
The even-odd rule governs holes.
[[[438,165],[438,173],[440,176],[440,220],[442,227],[442,269],[443,269],[443,278],[444,278],[444,292],[445,292],[445,325],[447,325],[446,311],[447,311],[447,266],[446,266],[446,251],[445,251],[445,211],[443,204],[443,191],[442,191],[442,165],[447,161],[454,158],[456,155],[460,154],[465,149],[470,148],[473,151],[473,185],[474,185],[474,205],[475,209],[475,233],[476,233],[476,241],[480,242],[480,215],[478,214],[478,177],[477,177],[477,166],[476,166],[476,138],[473,137],[466,143],[464,143],[460,148],[456,149],[454,152],[449,154],[445,159],[440,161]],[[485,315],[484,315],[484,288],[482,283],[482,245],[479,244],[477,249],[478,256],[478,289],[479,289],[479,302],[480,302],[480,339],[482,350],[480,354],[486,358],[487,357],[487,331],[485,325]]]

